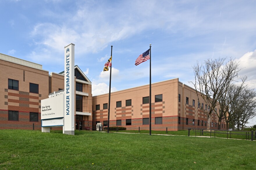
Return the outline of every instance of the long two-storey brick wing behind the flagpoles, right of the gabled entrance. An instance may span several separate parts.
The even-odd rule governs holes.
[[[178,78],[153,83],[151,92],[152,130],[207,128],[207,117],[198,108],[195,89],[179,82]],[[97,123],[107,126],[108,101],[109,94],[93,96],[93,126]],[[112,92],[110,103],[110,127],[149,130],[149,85]],[[207,109],[207,105],[204,108]],[[212,114],[210,128],[217,127],[218,117]],[[222,120],[221,129],[225,127],[225,120]]]

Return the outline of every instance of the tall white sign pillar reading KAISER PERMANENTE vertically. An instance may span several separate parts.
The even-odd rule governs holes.
[[[75,123],[75,74],[74,56],[75,45],[73,43],[64,47],[65,53],[65,78],[64,78],[64,126],[63,134],[74,135]]]

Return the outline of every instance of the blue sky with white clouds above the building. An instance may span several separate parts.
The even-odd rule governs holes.
[[[64,70],[64,46],[75,44],[75,65],[93,96],[109,92],[104,64],[112,51],[111,92],[179,78],[193,86],[193,65],[232,57],[256,88],[256,1],[0,0],[0,53]],[[256,118],[250,120],[253,125]]]

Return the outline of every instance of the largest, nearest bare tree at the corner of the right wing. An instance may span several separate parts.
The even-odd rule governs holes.
[[[207,129],[210,129],[212,113],[216,113],[216,106],[223,93],[226,93],[230,84],[237,77],[239,63],[230,58],[208,59],[204,63],[193,66],[195,82],[193,83],[201,110],[207,116]],[[208,105],[203,109],[201,103]]]

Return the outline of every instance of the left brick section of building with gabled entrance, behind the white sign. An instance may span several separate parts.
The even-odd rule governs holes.
[[[0,72],[0,129],[33,129],[33,124],[41,129],[41,100],[64,89],[64,72],[49,74],[40,64],[5,54],[0,54]],[[91,127],[91,82],[78,66],[75,85],[76,129],[79,122],[84,128]]]

